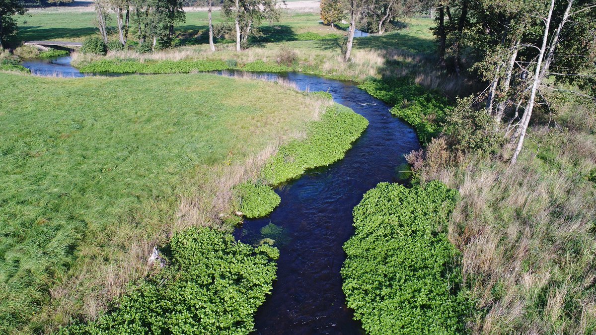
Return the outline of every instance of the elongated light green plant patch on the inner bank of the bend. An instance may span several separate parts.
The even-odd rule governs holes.
[[[327,166],[352,147],[352,142],[364,132],[368,120],[347,107],[333,106],[312,122],[305,139],[295,139],[283,145],[262,170],[262,176],[272,185],[296,178],[306,169]]]

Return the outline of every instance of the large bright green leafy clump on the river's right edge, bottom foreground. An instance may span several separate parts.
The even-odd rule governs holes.
[[[460,290],[460,253],[443,231],[457,191],[440,182],[383,182],[354,208],[344,244],[347,305],[369,334],[457,334],[470,302]]]

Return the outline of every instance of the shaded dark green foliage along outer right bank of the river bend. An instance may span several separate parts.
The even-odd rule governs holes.
[[[451,108],[446,98],[411,83],[407,77],[368,79],[358,87],[375,98],[395,104],[391,113],[412,125],[423,144],[442,132],[446,111]]]

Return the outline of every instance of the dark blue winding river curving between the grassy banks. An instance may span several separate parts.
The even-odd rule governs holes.
[[[23,65],[36,75],[83,76],[70,66],[69,57]],[[272,294],[256,314],[256,333],[362,334],[345,304],[340,275],[342,245],[353,234],[352,209],[378,182],[405,182],[403,155],[420,148],[418,138],[391,116],[390,106],[353,83],[302,73],[265,76],[284,77],[303,90],[328,91],[370,125],[344,159],[281,185],[275,190],[280,206],[266,218],[246,220],[235,231],[238,240],[251,244],[271,238],[281,252]]]

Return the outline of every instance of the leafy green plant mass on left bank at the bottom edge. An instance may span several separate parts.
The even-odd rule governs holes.
[[[231,234],[189,228],[175,234],[171,263],[141,281],[116,311],[60,333],[248,334],[272,289],[279,251],[256,249]]]

